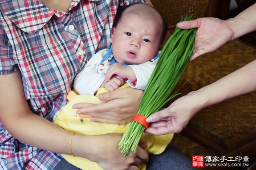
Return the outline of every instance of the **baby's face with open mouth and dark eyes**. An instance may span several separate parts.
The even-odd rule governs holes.
[[[158,23],[138,14],[123,15],[111,38],[115,60],[140,64],[153,59],[161,47],[162,28]]]

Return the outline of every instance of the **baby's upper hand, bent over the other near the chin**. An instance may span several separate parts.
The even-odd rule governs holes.
[[[114,75],[118,75],[122,79],[128,79],[129,78],[129,73],[128,73],[128,67],[120,64],[120,63],[114,63],[110,67],[108,67],[105,81],[108,82],[110,81],[111,77]]]

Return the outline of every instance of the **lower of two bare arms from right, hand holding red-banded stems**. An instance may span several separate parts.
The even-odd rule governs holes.
[[[256,60],[206,87],[173,102],[147,119],[147,133],[179,133],[200,110],[224,100],[256,91]]]

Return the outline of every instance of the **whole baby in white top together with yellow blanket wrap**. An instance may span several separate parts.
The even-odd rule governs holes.
[[[54,123],[79,134],[126,132],[130,123],[119,125],[93,122],[89,118],[78,116],[77,109],[72,109],[72,106],[75,103],[102,103],[94,96],[99,89],[113,91],[127,84],[133,88],[145,89],[166,33],[167,25],[154,8],[146,4],[123,7],[113,25],[110,40],[112,46],[93,55],[77,75],[74,89],[79,95],[70,99]],[[124,84],[125,81],[127,83]],[[146,150],[150,154],[160,154],[171,142],[172,137],[173,134],[143,134],[140,141],[147,143]],[[85,158],[64,154],[62,156],[82,170],[102,170],[96,162]],[[146,165],[139,166],[139,170],[145,169]]]

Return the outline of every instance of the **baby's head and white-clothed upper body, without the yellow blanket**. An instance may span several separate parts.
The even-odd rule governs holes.
[[[114,91],[126,79],[130,87],[145,89],[167,24],[149,5],[131,4],[123,8],[115,18],[110,49],[93,55],[76,76],[73,87],[78,94],[95,95],[99,87]]]

